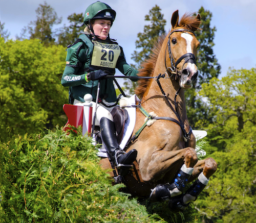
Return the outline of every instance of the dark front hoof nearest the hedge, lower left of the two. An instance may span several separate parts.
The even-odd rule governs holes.
[[[150,202],[161,202],[170,199],[169,185],[158,184],[150,194]]]

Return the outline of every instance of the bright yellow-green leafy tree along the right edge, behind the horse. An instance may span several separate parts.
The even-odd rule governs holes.
[[[229,70],[221,80],[202,85],[200,95],[214,114],[207,127],[209,152],[218,171],[209,181],[207,199],[197,209],[211,222],[254,222],[256,193],[256,68]],[[207,221],[210,222],[210,221]]]

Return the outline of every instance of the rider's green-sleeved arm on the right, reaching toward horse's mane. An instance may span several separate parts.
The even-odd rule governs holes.
[[[116,67],[125,76],[138,77],[137,76],[138,70],[136,70],[135,68],[133,68],[129,64],[127,64],[127,62],[125,60],[124,53],[123,53],[123,49],[122,49],[122,47],[120,47],[120,48],[121,48],[121,54],[120,54],[120,56],[118,58]],[[138,79],[131,79],[131,80],[132,81],[137,81]]]

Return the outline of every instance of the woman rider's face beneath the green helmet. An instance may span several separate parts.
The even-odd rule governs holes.
[[[105,40],[110,32],[111,21],[107,19],[96,19],[93,26],[93,31],[100,39]]]

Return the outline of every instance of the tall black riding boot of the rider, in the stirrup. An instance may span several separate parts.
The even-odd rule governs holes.
[[[137,157],[137,151],[131,150],[129,153],[125,153],[120,150],[114,122],[106,117],[102,117],[100,119],[100,133],[106,152],[108,152],[110,159],[114,161],[116,167],[120,168],[132,165]]]

